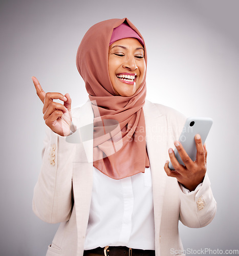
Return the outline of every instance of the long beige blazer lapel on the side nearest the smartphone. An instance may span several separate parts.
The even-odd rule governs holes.
[[[155,246],[159,250],[160,224],[166,185],[164,172],[165,159],[167,159],[167,122],[155,104],[145,101],[143,107],[146,126],[146,146],[150,162],[154,215],[155,215]]]

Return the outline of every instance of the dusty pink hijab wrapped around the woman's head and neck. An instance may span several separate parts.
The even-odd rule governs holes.
[[[142,109],[146,97],[145,77],[133,96],[122,97],[116,96],[108,74],[111,36],[114,28],[124,22],[143,40],[127,18],[108,19],[86,32],[76,56],[76,66],[85,82],[94,112],[94,166],[113,179],[144,173],[145,167],[149,167]],[[147,63],[145,43],[143,45]],[[109,122],[110,128],[106,127]]]

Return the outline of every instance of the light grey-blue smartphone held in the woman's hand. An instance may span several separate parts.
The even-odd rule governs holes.
[[[212,119],[208,117],[188,117],[183,131],[178,139],[180,143],[183,145],[184,150],[187,152],[188,156],[191,158],[192,161],[196,160],[197,148],[195,144],[195,135],[200,134],[202,142],[204,144],[207,135],[212,126]],[[178,162],[182,165],[185,165],[177,151],[177,148],[174,150],[175,156]],[[171,170],[174,170],[171,161],[168,163],[168,167]]]

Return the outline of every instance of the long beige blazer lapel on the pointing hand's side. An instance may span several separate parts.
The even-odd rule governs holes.
[[[85,232],[90,214],[93,187],[93,120],[91,101],[74,110],[76,132],[68,136],[69,143],[75,143],[73,162],[74,207],[77,224],[77,255],[84,250]]]

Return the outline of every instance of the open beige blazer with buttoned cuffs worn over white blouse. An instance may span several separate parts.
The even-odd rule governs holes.
[[[177,179],[164,172],[168,148],[179,138],[185,117],[149,101],[145,102],[143,110],[153,182],[156,256],[185,255],[178,221],[188,227],[206,226],[214,218],[216,202],[207,175],[197,192],[186,195]],[[73,122],[76,128],[93,123],[90,101],[74,109]],[[93,138],[93,126],[88,127],[92,127],[89,133]],[[41,172],[34,188],[33,211],[48,223],[61,222],[47,256],[81,256],[93,186],[93,141],[69,143],[66,137],[47,127],[44,144]]]

